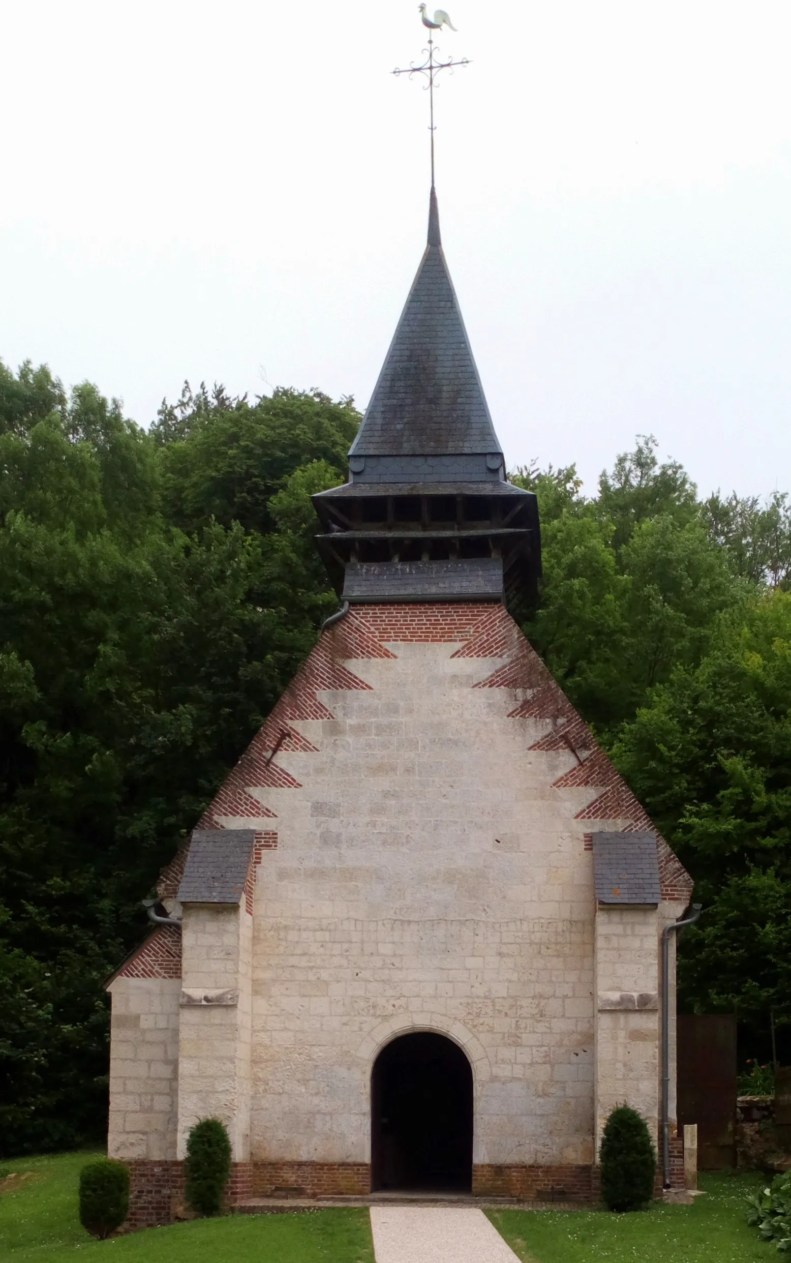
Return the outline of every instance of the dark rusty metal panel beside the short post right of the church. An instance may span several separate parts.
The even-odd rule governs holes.
[[[734,1013],[679,1014],[679,1128],[697,1124],[701,1171],[735,1166],[737,1019]]]

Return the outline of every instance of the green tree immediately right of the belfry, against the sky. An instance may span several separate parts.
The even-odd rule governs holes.
[[[541,600],[524,630],[605,743],[649,688],[700,661],[715,616],[743,599],[694,485],[655,446],[619,456],[591,500],[574,467],[514,476],[542,520]]]

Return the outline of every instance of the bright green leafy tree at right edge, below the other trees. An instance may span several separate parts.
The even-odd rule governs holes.
[[[653,691],[613,753],[705,908],[682,1003],[735,1008],[759,1041],[770,1008],[791,1014],[791,594],[720,615],[700,663]]]

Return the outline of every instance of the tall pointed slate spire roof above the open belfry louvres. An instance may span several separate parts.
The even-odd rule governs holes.
[[[502,452],[442,254],[436,192],[428,244],[350,456]]]

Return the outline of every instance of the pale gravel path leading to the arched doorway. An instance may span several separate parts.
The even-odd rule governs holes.
[[[371,1206],[377,1263],[519,1263],[475,1206]]]

